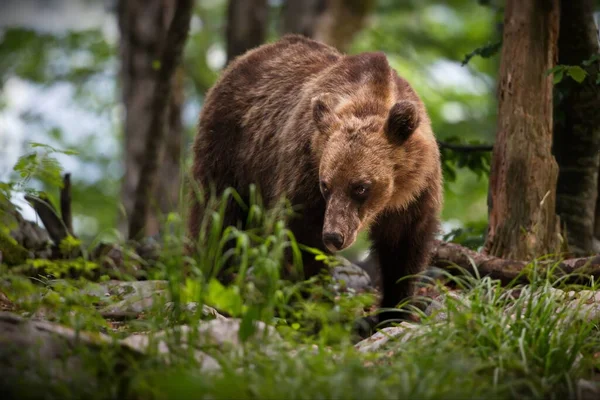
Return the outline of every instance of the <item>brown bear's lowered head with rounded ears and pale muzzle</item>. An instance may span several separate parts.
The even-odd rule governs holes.
[[[391,107],[352,103],[344,104],[329,93],[311,101],[318,131],[313,149],[327,204],[323,243],[332,252],[352,245],[358,232],[390,204],[406,156],[403,145],[420,122],[413,101],[401,100]]]

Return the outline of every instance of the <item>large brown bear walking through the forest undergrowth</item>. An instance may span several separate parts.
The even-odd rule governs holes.
[[[301,244],[336,252],[368,230],[383,308],[413,294],[439,227],[440,154],[425,106],[383,53],[344,55],[286,35],[236,58],[208,92],[193,147],[193,179],[267,206],[301,205],[289,228]],[[191,197],[189,234],[203,209]],[[231,205],[230,205],[231,206]],[[230,207],[226,225],[245,220]],[[307,277],[323,265],[303,255]],[[398,313],[383,312],[379,321]]]

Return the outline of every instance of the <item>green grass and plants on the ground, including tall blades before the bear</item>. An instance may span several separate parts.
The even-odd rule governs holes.
[[[163,240],[152,275],[168,280],[174,307],[166,310],[164,303],[157,303],[145,320],[120,329],[111,329],[99,316],[93,305],[100,299],[82,294],[82,280],[32,282],[7,275],[2,288],[21,313],[31,315],[43,306],[53,310],[49,319],[116,338],[181,323],[196,326],[204,317],[185,308],[190,301],[242,320],[242,354],[198,343],[184,348],[170,337],[169,364],[128,360],[124,370],[115,372],[112,353],[104,352],[102,360],[92,357],[93,367],[102,365],[98,376],[103,384],[93,392],[99,398],[562,400],[576,398],[577,381],[594,375],[594,354],[600,351],[596,322],[563,307],[554,290],[560,282],[544,276],[519,287],[516,298],[516,287],[503,288],[489,278],[450,277],[465,301],[450,298],[441,310],[447,319],[438,322],[435,316],[421,315],[423,326],[410,340],[396,338],[374,354],[358,352],[351,339],[352,322],[373,304],[373,296],[335,293],[323,277],[285,281],[284,250],[299,250],[283,222],[287,211],[266,212],[257,199],[253,202],[252,223],[242,231],[220,225],[223,202],[211,198],[206,206],[214,212],[203,225],[194,257],[183,252],[182,220],[170,216],[172,234]],[[235,241],[234,249],[221,254],[229,239]],[[229,286],[215,279],[224,257],[236,257],[240,266]],[[184,265],[188,276],[182,272]],[[252,339],[258,320],[274,326],[282,341]],[[222,369],[200,371],[191,356],[194,348],[214,356]],[[77,398],[74,390],[57,398]]]

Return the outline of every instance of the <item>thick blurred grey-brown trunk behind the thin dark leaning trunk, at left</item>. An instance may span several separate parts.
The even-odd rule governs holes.
[[[121,32],[121,84],[125,105],[124,169],[121,202],[124,215],[119,220],[119,230],[127,235],[128,221],[133,214],[135,190],[140,180],[142,164],[146,157],[146,134],[152,121],[152,93],[156,89],[156,61],[164,46],[168,26],[175,12],[176,2],[163,0],[123,0],[118,4],[118,20]],[[167,150],[163,152],[161,178],[157,184],[155,199],[148,213],[148,235],[158,232],[158,212],[171,211],[177,204],[179,190],[179,163],[181,144],[181,95],[171,97]],[[164,146],[163,146],[164,147]],[[168,198],[168,203],[166,199]]]

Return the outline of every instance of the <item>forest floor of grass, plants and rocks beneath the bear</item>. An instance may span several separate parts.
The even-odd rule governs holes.
[[[600,398],[600,291],[447,279],[420,288],[413,322],[357,343],[377,294],[335,282],[294,300],[293,285],[4,274],[0,386],[20,399]]]

